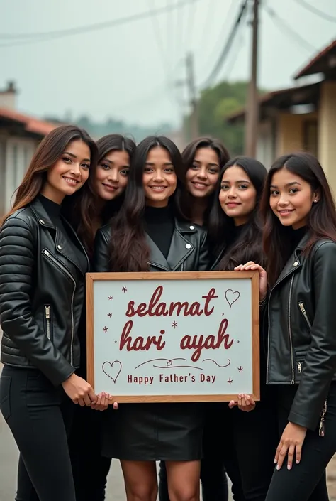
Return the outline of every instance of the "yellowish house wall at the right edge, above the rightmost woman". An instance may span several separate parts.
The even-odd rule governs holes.
[[[320,84],[318,158],[336,196],[336,82]]]

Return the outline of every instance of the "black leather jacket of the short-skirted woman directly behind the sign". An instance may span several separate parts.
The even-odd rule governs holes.
[[[97,232],[94,249],[94,271],[110,271],[108,249],[110,239],[110,225],[102,227]],[[175,219],[167,259],[147,234],[146,239],[150,247],[149,271],[205,271],[209,267],[206,230],[194,223],[191,224]]]

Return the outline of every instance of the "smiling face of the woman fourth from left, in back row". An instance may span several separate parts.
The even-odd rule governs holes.
[[[219,172],[217,153],[212,148],[198,148],[192,166],[186,171],[186,189],[194,197],[208,197],[215,189]]]

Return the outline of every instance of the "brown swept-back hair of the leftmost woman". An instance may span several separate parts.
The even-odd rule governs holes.
[[[91,153],[90,168],[96,166],[97,147],[94,140],[84,129],[79,129],[74,125],[56,127],[40,142],[23,177],[23,181],[16,190],[13,208],[4,216],[2,221],[6,220],[16,210],[33,202],[43,188],[47,178],[47,171],[61,158],[67,144],[78,139],[89,146]]]

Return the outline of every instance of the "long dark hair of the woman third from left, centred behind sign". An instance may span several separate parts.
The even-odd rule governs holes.
[[[149,136],[143,139],[138,144],[131,162],[123,206],[111,220],[111,271],[148,271],[149,249],[143,222],[145,192],[142,176],[148,153],[157,146],[168,151],[177,175],[177,190],[169,200],[169,204],[175,217],[187,219],[177,197],[184,181],[181,153],[167,137]]]

